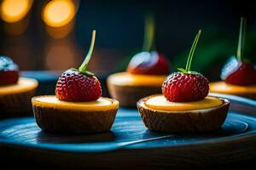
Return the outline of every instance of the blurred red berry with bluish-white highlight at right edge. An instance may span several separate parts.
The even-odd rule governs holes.
[[[247,86],[256,84],[256,68],[250,63],[232,57],[224,65],[221,79],[226,83]]]

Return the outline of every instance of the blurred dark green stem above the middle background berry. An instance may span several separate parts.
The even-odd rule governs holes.
[[[148,14],[145,19],[143,51],[150,51],[154,44],[155,23],[153,14]]]

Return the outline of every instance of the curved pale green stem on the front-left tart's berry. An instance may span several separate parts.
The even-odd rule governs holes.
[[[96,31],[93,30],[92,31],[92,36],[91,36],[91,42],[90,42],[90,48],[89,48],[89,52],[88,54],[86,55],[85,59],[84,59],[84,62],[82,63],[82,65],[79,67],[79,71],[80,72],[83,72],[85,74],[92,74],[91,72],[89,71],[86,71],[86,68],[87,68],[87,65],[90,61],[90,58],[91,58],[91,54],[93,52],[93,48],[94,48],[94,43],[95,43],[95,39],[96,39]],[[93,75],[93,74],[92,74]]]

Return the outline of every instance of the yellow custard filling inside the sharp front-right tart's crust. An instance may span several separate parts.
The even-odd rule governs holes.
[[[207,96],[205,99],[193,102],[171,102],[164,95],[155,95],[145,101],[144,105],[158,111],[191,111],[201,110],[222,105],[221,99]]]

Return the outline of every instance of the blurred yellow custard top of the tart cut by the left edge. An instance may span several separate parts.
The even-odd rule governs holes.
[[[15,84],[0,86],[0,95],[23,93],[37,87],[38,81],[35,79],[20,77],[18,82]]]

